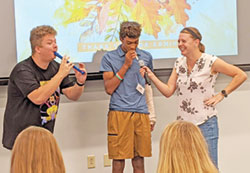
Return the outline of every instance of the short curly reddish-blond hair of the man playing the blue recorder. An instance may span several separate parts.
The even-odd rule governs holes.
[[[33,28],[30,31],[30,44],[31,44],[32,55],[35,53],[35,47],[41,46],[43,37],[45,37],[46,35],[56,36],[56,34],[57,34],[56,30],[48,25],[41,25]]]

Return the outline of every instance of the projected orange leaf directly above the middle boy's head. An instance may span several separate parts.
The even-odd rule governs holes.
[[[158,13],[161,8],[156,0],[138,0],[135,7],[132,9],[131,18],[142,25],[144,32],[158,38],[158,33],[161,28],[157,24],[160,20]]]

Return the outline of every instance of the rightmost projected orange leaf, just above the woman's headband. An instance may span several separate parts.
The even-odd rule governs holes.
[[[182,24],[183,26],[186,26],[186,22],[189,19],[185,9],[191,9],[186,0],[169,0],[168,10],[170,14],[174,15],[177,24]]]

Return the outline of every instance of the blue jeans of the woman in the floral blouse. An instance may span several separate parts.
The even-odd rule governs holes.
[[[215,166],[218,168],[218,138],[219,128],[217,117],[213,116],[205,123],[198,126],[201,129],[203,136],[205,137],[208,145],[210,157],[213,160]]]

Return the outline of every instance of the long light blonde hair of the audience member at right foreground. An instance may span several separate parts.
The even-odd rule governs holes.
[[[200,129],[186,121],[169,124],[160,141],[158,173],[218,173]]]

